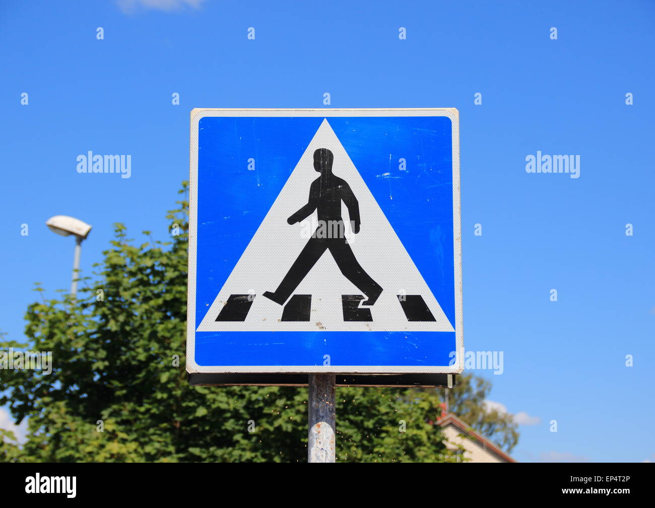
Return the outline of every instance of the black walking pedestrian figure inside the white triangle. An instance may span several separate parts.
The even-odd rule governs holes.
[[[331,151],[325,148],[314,152],[314,170],[321,175],[312,182],[309,189],[309,202],[287,220],[289,224],[295,224],[307,219],[315,209],[318,210],[318,228],[312,234],[312,238],[293,262],[278,289],[274,293],[271,291],[264,293],[265,297],[280,305],[289,299],[291,293],[327,249],[337,262],[341,273],[368,297],[368,300],[362,302],[362,305],[373,305],[382,293],[382,287],[364,271],[364,268],[355,259],[344,235],[341,200],[348,207],[354,233],[360,231],[360,208],[346,181],[332,174],[333,159]]]

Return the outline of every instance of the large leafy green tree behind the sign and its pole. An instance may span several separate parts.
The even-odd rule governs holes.
[[[145,231],[149,242],[135,245],[115,225],[115,240],[77,299],[62,292],[47,300],[37,285],[41,302],[28,308],[26,338],[31,350],[52,352],[53,370],[3,372],[0,405],[29,423],[22,448],[0,436],[7,438],[0,460],[306,460],[306,388],[189,386],[188,203],[178,205],[166,216],[168,242]],[[339,388],[337,400],[337,460],[455,460],[432,424],[438,391]]]

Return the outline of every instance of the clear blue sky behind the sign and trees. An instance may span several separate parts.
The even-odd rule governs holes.
[[[84,274],[112,223],[166,237],[194,107],[457,107],[464,344],[504,352],[476,374],[530,424],[513,455],[655,460],[655,5],[459,4],[3,2],[0,329],[20,340],[35,281],[69,287],[48,217],[93,225]],[[131,154],[131,177],[77,173],[89,150]],[[580,177],[527,173],[537,151],[580,155]]]

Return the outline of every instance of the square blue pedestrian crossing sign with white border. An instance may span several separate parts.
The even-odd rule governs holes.
[[[457,109],[194,109],[187,371],[458,373]]]

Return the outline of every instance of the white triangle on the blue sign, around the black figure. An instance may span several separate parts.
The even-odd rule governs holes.
[[[362,306],[360,302],[360,308],[370,309],[372,321],[344,320],[342,295],[362,295],[362,291],[341,274],[329,250],[323,253],[293,292],[294,295],[311,295],[309,321],[282,321],[283,307],[262,296],[265,291],[276,290],[309,241],[308,233],[310,235],[316,229],[316,211],[305,221],[294,225],[289,225],[287,219],[307,204],[310,185],[320,174],[314,170],[313,158],[314,151],[320,148],[333,153],[333,174],[350,185],[359,202],[361,228],[358,234],[350,230],[350,217],[343,202],[341,210],[346,225],[345,236],[356,259],[365,272],[383,287],[383,293],[373,306]],[[252,305],[245,321],[216,321],[230,295],[252,295]],[[398,295],[420,295],[434,321],[408,321]],[[454,330],[326,119],[197,331]]]

